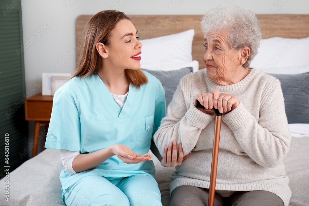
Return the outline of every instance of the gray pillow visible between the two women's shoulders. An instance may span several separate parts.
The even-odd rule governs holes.
[[[157,79],[160,80],[162,86],[165,90],[165,102],[166,107],[171,102],[174,92],[177,89],[177,86],[180,82],[180,79],[183,78],[185,75],[193,72],[193,67],[186,67],[179,70],[172,70],[172,71],[162,71],[162,70],[148,70],[142,69],[149,74],[154,75]]]

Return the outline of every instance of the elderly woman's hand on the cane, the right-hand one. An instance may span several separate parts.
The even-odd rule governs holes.
[[[216,103],[215,103],[216,102]],[[222,114],[229,113],[239,105],[239,100],[234,95],[223,93],[217,101],[214,101],[214,107],[219,109]]]

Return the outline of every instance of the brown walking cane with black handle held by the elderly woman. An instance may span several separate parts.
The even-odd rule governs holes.
[[[204,109],[199,101],[196,102],[196,107]],[[211,159],[211,171],[210,171],[210,185],[208,195],[208,206],[214,206],[214,195],[216,190],[216,179],[217,179],[217,168],[218,168],[218,154],[219,154],[219,142],[220,142],[220,131],[221,131],[221,117],[222,113],[218,109],[213,108],[216,113],[216,120],[214,126],[214,145]]]

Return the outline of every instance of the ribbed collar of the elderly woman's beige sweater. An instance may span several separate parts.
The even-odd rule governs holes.
[[[206,72],[206,70],[205,70]],[[256,74],[258,74],[260,72],[259,69],[256,68],[251,68],[250,73],[243,78],[241,81],[235,83],[235,84],[231,84],[231,85],[220,85],[217,84],[213,79],[207,78],[206,75],[206,82],[212,86],[213,88],[217,88],[219,91],[235,91],[238,90],[240,88],[242,88],[245,85],[248,85],[248,83],[252,82],[252,79],[256,76]]]

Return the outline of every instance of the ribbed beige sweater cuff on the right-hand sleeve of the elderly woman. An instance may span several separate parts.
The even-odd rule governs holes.
[[[222,121],[234,131],[243,124],[245,124],[251,117],[251,113],[243,106],[240,102],[239,105],[231,112],[226,115],[222,115]]]

